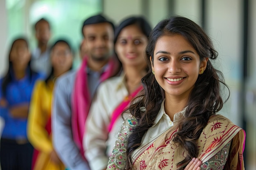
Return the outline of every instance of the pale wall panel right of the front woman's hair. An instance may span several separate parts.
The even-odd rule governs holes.
[[[243,22],[240,0],[209,0],[207,30],[219,53],[215,66],[222,71],[231,90],[222,114],[241,126],[240,81],[242,76]],[[217,10],[218,9],[218,10]]]

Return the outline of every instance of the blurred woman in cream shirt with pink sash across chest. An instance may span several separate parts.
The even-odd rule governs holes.
[[[141,89],[148,66],[144,58],[150,24],[142,18],[125,18],[115,31],[115,52],[123,71],[100,84],[86,121],[85,156],[92,170],[103,170],[122,125],[121,113]],[[115,128],[114,128],[115,127]]]

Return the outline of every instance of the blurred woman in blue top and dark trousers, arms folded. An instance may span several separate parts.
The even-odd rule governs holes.
[[[27,41],[13,41],[9,69],[0,79],[0,116],[4,119],[1,137],[2,170],[30,170],[33,147],[27,140],[27,116],[34,84],[43,78],[31,70]]]

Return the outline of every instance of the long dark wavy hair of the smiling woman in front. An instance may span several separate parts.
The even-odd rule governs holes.
[[[155,44],[160,37],[176,34],[182,35],[193,46],[200,56],[200,61],[206,57],[216,60],[218,56],[209,36],[200,26],[187,18],[175,16],[164,19],[155,26],[150,33],[149,43],[146,48],[146,60],[150,71],[141,79],[144,93],[137,96],[129,107],[130,113],[138,119],[138,126],[133,128],[132,134],[128,139],[127,169],[132,166],[131,153],[141,145],[143,135],[148,128],[153,126],[165,98],[164,90],[159,86],[155,76],[152,74],[150,56],[153,63]],[[187,152],[185,159],[178,164],[184,163],[186,165],[193,157],[198,157],[197,140],[203,128],[207,125],[209,117],[215,115],[223,106],[220,94],[221,84],[227,87],[222,73],[213,68],[208,60],[206,70],[198,76],[195,86],[189,95],[184,119],[179,121],[179,130],[173,139]],[[229,91],[228,87],[227,89]]]

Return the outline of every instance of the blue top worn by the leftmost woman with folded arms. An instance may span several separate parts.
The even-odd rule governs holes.
[[[6,97],[3,97],[3,79],[0,79],[0,99],[4,98],[8,103],[7,107],[0,106],[0,116],[4,119],[2,138],[27,139],[27,119],[11,117],[8,108],[22,103],[29,103],[36,80],[43,79],[44,76],[34,73],[30,78],[29,71],[27,71],[25,77],[22,79],[15,79],[13,73],[11,73],[11,77],[12,81],[6,88]]]

